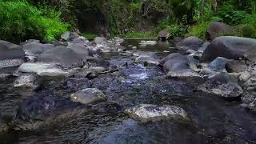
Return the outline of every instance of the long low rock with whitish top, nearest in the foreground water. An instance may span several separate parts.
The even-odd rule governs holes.
[[[157,106],[150,104],[141,104],[125,110],[131,118],[138,119],[142,122],[161,120],[166,118],[181,118],[189,120],[185,110],[179,106]]]

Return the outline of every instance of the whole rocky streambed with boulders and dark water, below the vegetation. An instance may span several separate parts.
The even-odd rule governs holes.
[[[0,41],[0,143],[256,142],[256,40],[62,39]]]

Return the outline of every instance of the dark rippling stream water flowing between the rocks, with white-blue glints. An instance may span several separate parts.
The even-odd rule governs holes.
[[[170,43],[139,46],[139,42],[126,40],[124,46],[127,50],[132,50],[129,45],[137,46],[137,52],[157,52],[160,58],[175,51]],[[31,98],[48,98],[56,106],[47,115],[52,122],[36,130],[0,134],[0,143],[256,143],[256,116],[243,109],[238,99],[227,101],[198,92],[195,87],[201,80],[165,78],[160,67],[136,64],[129,54],[104,57],[119,70],[94,79],[46,82],[37,91],[13,88],[14,78],[1,82],[2,119],[14,117],[19,103]],[[70,102],[70,94],[86,87],[102,90],[107,102],[90,106]],[[123,113],[140,103],[181,106],[193,121],[141,123]]]

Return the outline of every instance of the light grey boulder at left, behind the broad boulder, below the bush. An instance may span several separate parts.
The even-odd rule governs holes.
[[[39,42],[28,42],[22,46],[22,49],[25,51],[26,55],[38,56],[46,50],[54,48],[52,44],[42,44]]]

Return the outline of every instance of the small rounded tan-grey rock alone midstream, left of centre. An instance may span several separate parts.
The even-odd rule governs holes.
[[[95,88],[86,88],[70,95],[73,102],[80,102],[82,104],[90,104],[94,102],[102,102],[106,100],[106,95],[101,90]]]

